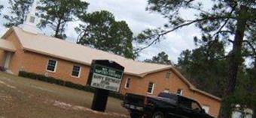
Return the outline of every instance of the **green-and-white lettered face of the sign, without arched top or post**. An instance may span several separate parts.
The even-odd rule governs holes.
[[[91,87],[119,92],[123,69],[116,69],[111,63],[109,66],[94,63],[91,71],[93,71],[90,81]]]

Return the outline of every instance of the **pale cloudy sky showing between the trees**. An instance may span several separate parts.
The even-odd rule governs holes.
[[[4,4],[8,7],[7,0],[0,0],[0,4]],[[145,10],[147,6],[147,0],[86,0],[90,3],[88,7],[88,13],[97,10],[108,10],[114,14],[117,21],[124,20],[127,22],[133,33],[139,34],[141,31],[147,28],[158,28],[163,26],[167,22],[163,19],[159,13],[151,13]],[[8,13],[8,9],[3,10],[3,14]],[[192,17],[191,13],[182,13],[185,17]],[[0,36],[5,34],[8,29],[5,28],[2,23],[5,19],[0,16]],[[75,43],[78,34],[74,28],[79,22],[72,22],[68,24],[66,34],[68,35],[67,41]],[[46,32],[47,31],[43,31]],[[166,38],[161,40],[160,43],[154,44],[148,49],[143,50],[139,54],[137,60],[145,60],[146,58],[152,58],[159,52],[166,52],[169,55],[169,59],[172,62],[177,63],[178,57],[185,49],[194,49],[194,36],[200,36],[200,31],[194,26],[189,26],[178,31],[169,33]]]

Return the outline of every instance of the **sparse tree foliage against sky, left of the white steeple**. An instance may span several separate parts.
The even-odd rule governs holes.
[[[8,7],[8,9],[11,10],[11,13],[5,14],[4,16],[4,18],[8,20],[8,22],[4,24],[5,27],[10,28],[23,24],[33,1],[34,0],[9,0],[11,6]]]

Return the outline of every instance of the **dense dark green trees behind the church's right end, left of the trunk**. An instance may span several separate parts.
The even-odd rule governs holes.
[[[181,52],[177,66],[197,88],[222,97],[224,82],[227,81],[227,59],[222,57],[224,46],[215,42]]]

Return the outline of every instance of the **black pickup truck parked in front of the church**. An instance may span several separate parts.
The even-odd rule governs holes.
[[[122,105],[130,111],[131,118],[214,118],[193,99],[172,93],[158,96],[127,93]]]

